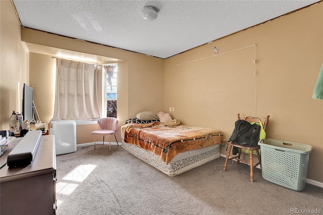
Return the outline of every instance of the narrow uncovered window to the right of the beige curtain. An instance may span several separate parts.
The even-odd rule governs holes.
[[[104,111],[103,116],[117,118],[117,64],[105,64],[103,69],[104,89]],[[105,112],[105,113],[104,113]]]

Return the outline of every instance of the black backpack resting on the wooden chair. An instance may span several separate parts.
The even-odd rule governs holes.
[[[260,134],[260,125],[250,124],[245,120],[237,120],[235,128],[231,134],[229,141],[245,146],[256,146],[258,144]],[[233,154],[238,153],[238,148],[233,147]]]

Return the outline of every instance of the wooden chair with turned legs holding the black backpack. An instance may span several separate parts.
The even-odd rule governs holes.
[[[254,122],[254,123],[260,123],[260,121],[261,121],[263,130],[265,130],[266,129],[266,126],[268,124],[268,121],[269,121],[269,117],[270,117],[269,115],[267,115],[267,117],[266,118],[263,118],[263,119],[260,119],[260,118],[257,118],[257,117],[245,117],[244,120],[245,121],[248,121],[248,122]],[[241,120],[240,114],[238,114],[237,119],[238,120]],[[239,144],[236,144],[236,143],[230,142],[230,141],[227,141],[227,144],[228,144],[228,147],[229,148],[228,148],[226,162],[224,164],[223,170],[225,171],[227,169],[228,160],[231,160],[231,159],[237,160],[237,164],[239,164],[239,162],[243,162],[243,163],[249,164],[250,165],[250,181],[253,182],[253,168],[254,167],[257,167],[259,164],[260,164],[260,168],[261,168],[261,159],[260,159],[260,154],[259,154],[260,146],[259,145],[256,145],[256,146],[243,146],[243,145],[239,145]],[[237,156],[230,157],[230,151],[231,151],[231,149],[233,147],[238,147],[238,155]],[[249,150],[249,159],[250,159],[249,161],[248,160],[240,159],[240,155],[241,155],[241,150],[242,149]],[[253,163],[253,151],[256,152],[257,157],[258,157],[258,163],[256,163],[256,164]]]

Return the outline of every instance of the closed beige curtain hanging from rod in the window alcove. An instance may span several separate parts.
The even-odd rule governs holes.
[[[98,65],[56,58],[55,108],[51,121],[100,118]]]

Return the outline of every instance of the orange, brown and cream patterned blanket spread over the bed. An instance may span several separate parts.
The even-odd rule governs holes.
[[[165,126],[160,123],[127,124],[122,127],[124,140],[160,156],[170,163],[180,152],[204,148],[214,144],[225,144],[220,130],[212,128],[178,125]]]

